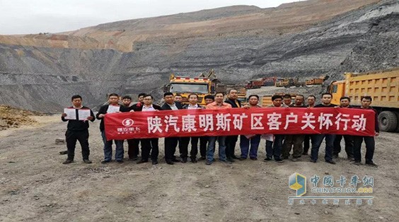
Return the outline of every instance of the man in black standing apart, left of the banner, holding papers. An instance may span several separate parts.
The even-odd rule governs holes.
[[[95,117],[93,111],[89,107],[82,105],[82,98],[80,95],[73,95],[71,98],[72,105],[69,109],[74,109],[76,118],[69,119],[66,113],[62,113],[61,119],[68,122],[67,132],[65,132],[65,141],[67,141],[68,158],[63,164],[74,162],[76,141],[79,141],[82,148],[82,157],[84,163],[91,163],[88,159],[90,149],[88,148],[88,121],[93,122]],[[79,119],[79,110],[90,110],[90,116],[86,120]],[[67,117],[67,119],[65,118]]]

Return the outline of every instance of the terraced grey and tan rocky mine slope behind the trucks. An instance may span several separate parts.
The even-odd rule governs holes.
[[[158,93],[171,72],[215,69],[236,82],[390,68],[398,18],[395,0],[311,0],[0,36],[0,103],[53,112],[79,93],[98,105],[110,92]]]

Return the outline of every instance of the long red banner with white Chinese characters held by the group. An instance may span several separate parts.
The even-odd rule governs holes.
[[[247,134],[374,136],[374,111],[342,108],[165,110],[105,115],[107,139]]]

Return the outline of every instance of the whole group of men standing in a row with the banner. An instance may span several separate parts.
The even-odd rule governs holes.
[[[67,141],[67,160],[64,164],[72,163],[74,161],[74,151],[76,141],[79,141],[82,148],[82,156],[84,163],[91,163],[88,156],[90,150],[88,148],[88,121],[93,122],[94,119],[100,119],[100,132],[104,142],[104,159],[101,163],[110,163],[112,160],[112,144],[115,143],[115,161],[117,163],[123,163],[124,159],[124,141],[123,140],[107,140],[105,136],[104,128],[104,117],[110,112],[111,107],[119,106],[118,112],[149,112],[155,110],[182,110],[182,109],[234,109],[234,108],[246,108],[246,109],[257,109],[260,108],[259,96],[250,95],[248,96],[248,105],[242,105],[240,100],[237,100],[237,90],[231,89],[227,93],[225,100],[224,93],[216,93],[215,95],[206,95],[204,100],[206,105],[203,107],[198,104],[198,95],[192,93],[188,96],[188,104],[183,105],[181,102],[182,96],[173,93],[164,93],[164,103],[160,105],[154,104],[154,98],[152,95],[140,93],[138,97],[138,103],[132,105],[132,98],[129,95],[122,97],[120,101],[119,95],[112,93],[108,95],[108,104],[100,107],[97,115],[94,116],[93,112],[87,117],[86,120],[66,119],[66,113],[62,114],[62,120],[68,121],[67,132],[65,134]],[[307,103],[305,104],[305,100]],[[294,103],[291,101],[291,95],[273,95],[272,105],[269,107],[284,108],[284,107],[342,107],[342,108],[354,108],[350,105],[350,98],[340,98],[340,105],[331,104],[332,95],[330,93],[323,93],[321,97],[321,103],[316,105],[316,97],[309,95],[305,98],[303,95],[296,95]],[[80,95],[74,95],[71,98],[72,107],[76,109],[76,115],[79,115],[79,109],[89,109],[82,105],[82,98]],[[120,104],[122,102],[122,104]],[[371,105],[372,98],[370,96],[362,97],[362,106],[356,107],[357,109],[373,110]],[[361,112],[359,110],[359,112]],[[378,119],[377,112],[375,112],[375,132],[378,136]],[[258,147],[262,138],[266,139],[266,156],[265,162],[275,160],[277,163],[283,163],[284,160],[289,159],[290,156],[292,161],[297,161],[301,156],[307,156],[308,150],[311,149],[310,161],[316,163],[318,160],[318,151],[325,140],[325,162],[335,164],[334,158],[338,158],[341,151],[341,140],[342,137],[345,140],[345,152],[349,161],[352,161],[355,165],[360,165],[362,160],[361,148],[362,142],[366,144],[366,156],[365,164],[377,167],[373,161],[375,141],[374,136],[350,136],[350,135],[335,135],[335,134],[274,134],[274,135],[241,135],[239,147],[241,155],[236,156],[236,144],[238,136],[188,136],[188,137],[166,137],[165,138],[165,160],[169,165],[173,165],[176,162],[187,163],[189,154],[190,161],[197,163],[199,160],[204,160],[207,165],[212,165],[214,162],[214,151],[216,148],[216,141],[219,148],[219,161],[222,163],[231,164],[236,160],[258,160]],[[191,143],[190,153],[188,152],[189,145]],[[141,158],[139,158],[139,144],[141,144]],[[198,146],[199,144],[199,146]],[[180,158],[175,156],[176,148],[180,153]],[[199,151],[198,151],[199,149]],[[290,152],[292,150],[292,154]],[[199,156],[197,158],[197,155]],[[151,139],[127,139],[127,155],[129,160],[137,160],[137,163],[147,163],[151,160],[153,165],[158,164],[158,138]]]

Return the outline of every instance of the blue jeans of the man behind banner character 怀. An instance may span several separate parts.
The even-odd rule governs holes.
[[[318,150],[323,143],[323,139],[325,138],[325,156],[324,159],[332,160],[332,151],[334,149],[334,134],[313,134],[311,135],[312,140],[312,150],[311,150],[311,159],[318,159]]]

